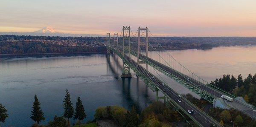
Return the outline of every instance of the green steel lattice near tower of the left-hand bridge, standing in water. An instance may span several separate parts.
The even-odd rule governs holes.
[[[130,38],[131,38],[131,27],[130,26],[123,26],[122,29],[123,33],[123,59],[125,57],[125,49],[128,49],[128,56],[131,57],[130,52],[131,52],[131,43],[130,43]],[[125,46],[125,43],[127,43]],[[123,60],[123,68],[122,68],[122,78],[132,78],[131,75],[131,69],[130,69],[130,64]]]

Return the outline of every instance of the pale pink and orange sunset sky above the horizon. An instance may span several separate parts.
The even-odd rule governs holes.
[[[256,0],[0,0],[0,32],[256,37]]]

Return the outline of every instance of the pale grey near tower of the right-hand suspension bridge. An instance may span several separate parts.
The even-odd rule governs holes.
[[[146,28],[140,28],[138,29],[138,52],[137,52],[137,62],[138,63],[143,63],[142,61],[140,61],[140,31],[142,31],[142,35],[145,32],[145,43],[146,43],[146,56],[148,57],[148,27]],[[148,63],[146,63],[146,69],[148,70]]]

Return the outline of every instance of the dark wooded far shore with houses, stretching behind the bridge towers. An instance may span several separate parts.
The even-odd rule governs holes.
[[[111,38],[113,41],[113,38]],[[145,40],[145,38],[141,38]],[[256,38],[245,37],[154,37],[149,38],[149,50],[211,49],[217,46],[256,46]],[[119,43],[122,43],[122,38]],[[52,37],[0,35],[0,55],[103,53],[104,37]],[[137,38],[131,38],[137,49]],[[113,42],[111,42],[113,43]],[[145,46],[142,45],[144,50]]]

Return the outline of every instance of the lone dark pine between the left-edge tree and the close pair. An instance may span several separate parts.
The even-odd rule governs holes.
[[[41,120],[45,120],[44,118],[44,112],[41,110],[41,107],[40,107],[40,102],[37,98],[37,96],[35,95],[34,97],[34,103],[33,103],[33,110],[31,111],[31,115],[30,115],[30,118],[37,122],[39,124],[39,122]]]

